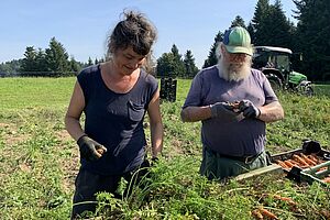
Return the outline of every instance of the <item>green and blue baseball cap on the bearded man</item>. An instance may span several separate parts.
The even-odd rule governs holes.
[[[251,37],[249,32],[242,26],[234,26],[224,32],[223,45],[231,54],[248,54],[253,55]]]

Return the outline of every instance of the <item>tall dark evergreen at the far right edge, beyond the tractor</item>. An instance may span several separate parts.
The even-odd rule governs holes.
[[[330,1],[294,0],[297,11],[296,50],[302,52],[301,70],[314,80],[330,78]]]

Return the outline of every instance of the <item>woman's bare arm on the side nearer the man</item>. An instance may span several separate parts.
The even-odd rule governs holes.
[[[150,118],[152,157],[157,155],[163,150],[163,122],[160,109],[160,89],[155,92],[153,99],[148,103],[147,114]]]

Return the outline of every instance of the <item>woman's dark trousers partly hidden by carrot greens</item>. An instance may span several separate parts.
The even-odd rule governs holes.
[[[139,184],[141,178],[147,173],[147,167],[150,167],[150,164],[147,161],[144,161],[143,164],[133,172],[110,176],[95,174],[80,168],[75,182],[76,190],[73,199],[72,219],[79,218],[85,211],[96,211],[97,193],[106,191],[113,194],[114,198],[121,198],[121,196],[116,193],[121,178],[124,178],[128,183]],[[134,174],[136,170],[139,170],[139,173]],[[127,188],[124,195],[130,195],[132,188],[132,186]]]

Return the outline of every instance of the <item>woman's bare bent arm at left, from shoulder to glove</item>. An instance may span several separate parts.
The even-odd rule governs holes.
[[[82,136],[84,130],[79,122],[80,116],[85,108],[85,97],[81,87],[78,81],[76,81],[74,92],[72,95],[70,103],[68,106],[65,116],[65,128],[74,140],[78,140]]]

